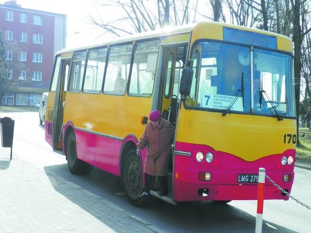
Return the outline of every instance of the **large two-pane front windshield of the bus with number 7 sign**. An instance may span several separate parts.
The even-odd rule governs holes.
[[[186,106],[295,117],[292,67],[288,54],[201,41],[192,50],[193,80]]]

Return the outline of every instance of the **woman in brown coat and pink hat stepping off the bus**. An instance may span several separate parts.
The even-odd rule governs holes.
[[[161,184],[160,196],[169,194],[166,175],[169,171],[169,160],[172,139],[175,127],[161,117],[161,113],[154,110],[149,115],[150,121],[147,123],[144,133],[137,143],[137,156],[141,155],[141,150],[148,146],[145,160],[145,187],[139,197],[149,195],[150,188],[155,176]]]

